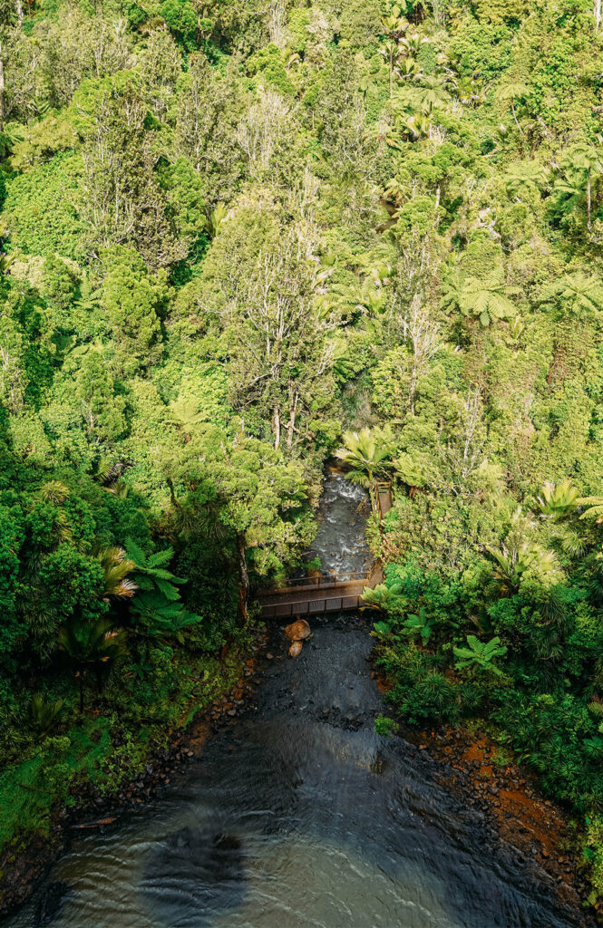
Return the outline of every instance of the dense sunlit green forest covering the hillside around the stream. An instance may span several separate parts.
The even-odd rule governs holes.
[[[299,562],[336,452],[395,704],[507,741],[588,820],[603,893],[599,26],[592,0],[3,6],[11,789],[81,760],[93,706],[117,748],[165,715]]]

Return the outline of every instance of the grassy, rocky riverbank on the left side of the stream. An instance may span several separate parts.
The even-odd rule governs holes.
[[[151,735],[145,732],[135,746],[112,743],[104,754],[98,750],[90,767],[82,767],[87,775],[74,780],[69,793],[59,802],[47,804],[42,828],[16,831],[0,853],[0,917],[6,917],[27,900],[73,836],[101,831],[128,809],[142,806],[160,793],[169,785],[170,777],[203,749],[216,723],[242,711],[259,682],[256,654],[260,650],[266,650],[263,630],[256,631],[249,652],[229,653],[226,660],[214,662],[213,672],[203,678],[203,691],[178,705],[176,725],[155,727]],[[99,747],[102,717],[97,715],[95,720],[96,730],[101,732]],[[93,735],[91,742],[95,740]],[[7,786],[13,793],[14,780]],[[19,785],[21,791],[27,790],[26,784]],[[48,795],[37,786],[27,792],[42,799]]]

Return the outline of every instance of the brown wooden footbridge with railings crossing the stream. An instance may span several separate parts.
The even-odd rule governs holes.
[[[358,609],[365,586],[376,586],[382,580],[383,571],[378,561],[369,571],[285,580],[282,586],[270,586],[258,592],[260,615],[263,619],[288,619]]]

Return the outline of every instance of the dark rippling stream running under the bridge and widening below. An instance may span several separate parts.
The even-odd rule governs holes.
[[[327,476],[310,552],[322,569],[370,560],[363,504],[360,488]],[[537,865],[439,785],[426,752],[375,735],[382,700],[364,620],[311,624],[301,656],[267,662],[255,704],[161,797],[78,835],[5,926],[578,925]],[[275,629],[279,655],[281,639]]]

